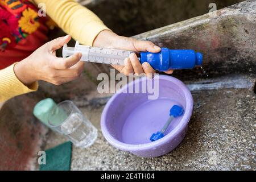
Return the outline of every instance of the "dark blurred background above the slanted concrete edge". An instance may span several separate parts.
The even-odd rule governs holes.
[[[242,0],[79,0],[117,34],[133,36],[209,12]]]

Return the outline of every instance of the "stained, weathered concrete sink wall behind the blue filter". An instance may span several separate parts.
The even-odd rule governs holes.
[[[134,38],[204,55],[203,71],[177,71],[182,80],[228,73],[256,73],[256,1],[248,0],[183,22],[144,32]],[[202,74],[207,73],[207,74]],[[184,76],[185,75],[185,76]]]

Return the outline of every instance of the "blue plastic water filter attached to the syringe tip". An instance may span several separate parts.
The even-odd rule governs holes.
[[[158,71],[168,69],[192,69],[203,64],[203,55],[189,49],[161,48],[158,53],[141,52],[141,64],[147,62]]]

